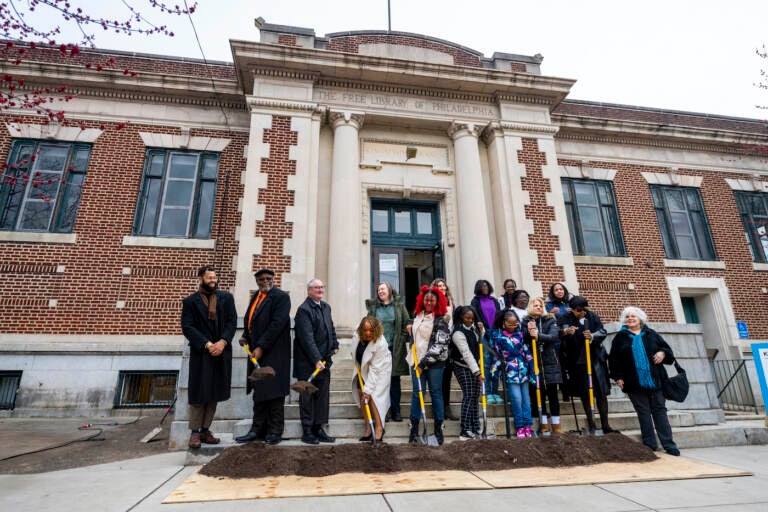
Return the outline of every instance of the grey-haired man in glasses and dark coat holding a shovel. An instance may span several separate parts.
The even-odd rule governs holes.
[[[307,299],[296,310],[293,344],[293,376],[307,380],[315,369],[322,371],[312,381],[318,390],[299,397],[299,414],[307,444],[333,443],[323,425],[328,423],[331,390],[331,357],[339,351],[336,329],[331,318],[331,307],[323,302],[325,286],[319,279],[307,283]]]

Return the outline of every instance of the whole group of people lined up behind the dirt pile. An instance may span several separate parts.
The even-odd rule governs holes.
[[[272,270],[261,269],[255,277],[259,291],[248,305],[239,343],[261,366],[274,368],[276,378],[248,382],[253,422],[250,431],[236,440],[277,444],[282,440],[290,384],[290,299],[273,286]],[[184,300],[182,312],[182,329],[190,344],[191,448],[219,442],[209,427],[216,403],[229,398],[237,318],[232,296],[217,290],[215,270],[202,267],[198,279],[199,290]],[[488,403],[502,403],[500,381],[519,438],[534,434],[531,404],[536,403],[537,386],[542,397],[540,433],[563,432],[559,392],[564,399],[581,398],[588,428],[595,431],[590,386],[602,431],[615,432],[608,423],[607,398],[613,378],[635,407],[643,442],[657,449],[658,434],[663,448],[679,455],[661,393],[666,376],[661,365],[672,364],[674,355],[646,325],[642,310],[624,310],[623,327],[609,355],[603,347],[606,331],[599,316],[584,297],[571,296],[563,283],[553,284],[546,299],[531,299],[513,279],[507,279],[503,288],[504,293],[496,297],[491,283],[479,280],[471,303],[456,305],[445,280],[436,279],[422,286],[411,317],[394,287],[378,284],[376,296],[366,301],[367,314],[354,333],[351,350],[353,396],[368,419],[361,441],[382,441],[385,422],[403,420],[400,381],[407,375],[413,384],[409,441],[417,441],[422,417],[418,391],[428,389],[439,444],[443,444],[446,418],[460,421],[461,440],[481,434],[478,399],[484,387]],[[324,290],[319,279],[307,283],[307,298],[295,317],[293,377],[306,380],[313,374],[312,384],[317,387],[299,398],[301,440],[307,444],[335,441],[324,425],[328,423],[330,368],[339,343],[331,308],[322,300]],[[249,360],[248,372],[254,367]],[[462,391],[460,418],[449,407],[453,376]]]

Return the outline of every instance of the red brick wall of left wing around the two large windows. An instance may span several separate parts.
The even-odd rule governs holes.
[[[242,185],[235,178],[245,167],[247,134],[191,131],[192,136],[232,139],[219,163],[212,229],[218,243],[213,251],[122,245],[123,237],[132,233],[141,186],[146,147],[139,131],[174,133],[178,128],[129,125],[115,130],[107,125],[92,147],[74,227],[76,244],[0,243],[3,332],[180,334],[180,301],[195,290],[197,267],[214,263],[220,268],[221,287],[233,286],[234,230],[240,223],[237,198],[242,197]],[[10,143],[3,130],[3,161]],[[59,265],[65,267],[63,274],[56,272]],[[132,269],[131,275],[123,276],[124,267]],[[57,301],[56,307],[48,306],[50,299]],[[125,301],[125,309],[117,309],[117,301]]]

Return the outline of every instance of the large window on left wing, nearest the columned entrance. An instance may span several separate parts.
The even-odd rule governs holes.
[[[218,153],[148,150],[134,234],[210,238],[218,171]]]

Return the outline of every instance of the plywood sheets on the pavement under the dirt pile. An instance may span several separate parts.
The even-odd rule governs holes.
[[[325,477],[289,475],[241,479],[213,478],[195,472],[163,500],[163,503],[546,487],[749,475],[751,473],[746,471],[668,455],[662,455],[653,462],[475,472],[340,473]]]

